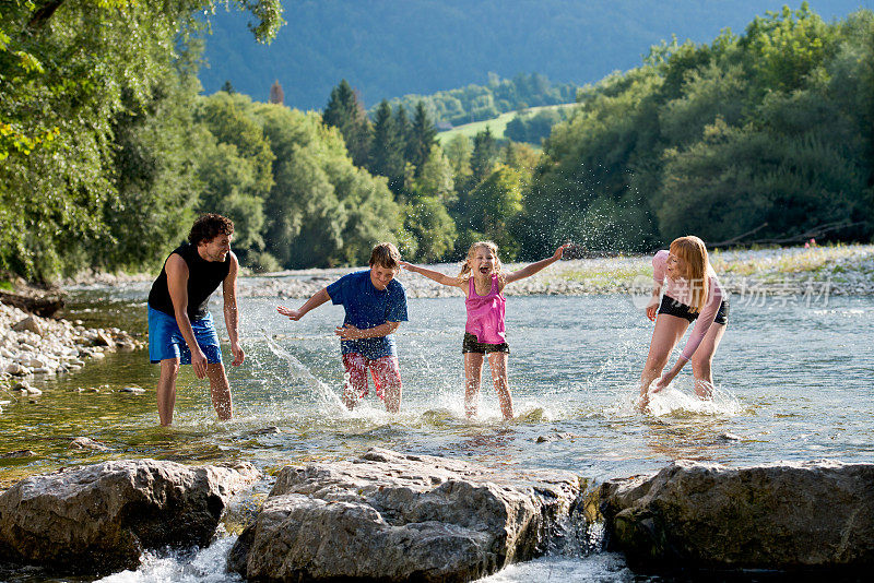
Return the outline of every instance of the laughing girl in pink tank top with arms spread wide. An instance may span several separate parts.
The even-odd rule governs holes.
[[[492,368],[492,381],[505,419],[512,418],[512,396],[507,382],[507,355],[510,347],[504,332],[504,286],[517,279],[534,275],[559,259],[567,245],[559,247],[553,257],[531,263],[515,272],[505,272],[498,259],[498,248],[492,241],[479,241],[468,250],[468,259],[457,277],[438,271],[413,265],[405,261],[401,266],[444,285],[464,291],[468,323],[461,352],[464,355],[464,413],[476,416],[480,401],[480,379],[483,374],[485,355]]]

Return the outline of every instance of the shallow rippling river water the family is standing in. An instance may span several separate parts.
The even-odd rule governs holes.
[[[66,316],[144,333],[146,291],[144,284],[74,290]],[[714,400],[690,396],[690,371],[684,370],[653,398],[653,412],[642,415],[633,398],[652,324],[629,297],[509,297],[517,418],[505,423],[487,370],[481,417],[464,418],[461,297],[410,300],[411,320],[397,335],[404,383],[398,416],[374,400],[354,413],[340,405],[343,372],[333,328],[342,322],[342,308],[322,306],[291,322],[275,313],[275,298],[243,298],[246,364],[229,371],[233,421],[216,420],[205,381],[187,367],[175,425],[158,427],[157,367],[147,364],[145,352],[110,354],[76,373],[35,382],[40,396],[0,393],[7,402],[0,452],[37,454],[0,460],[0,480],[8,487],[61,465],[126,457],[247,460],[272,473],[288,463],[351,457],[369,447],[497,467],[569,469],[595,481],[654,472],[676,459],[728,465],[824,457],[871,462],[874,298],[747,299],[732,305],[714,362]],[[212,311],[226,340],[221,307],[213,305]],[[229,361],[226,346],[224,354]],[[121,391],[131,385],[147,392]],[[110,451],[69,449],[79,436]],[[149,555],[139,571],[106,581],[236,581],[223,570],[232,543],[227,536],[197,554]],[[556,552],[488,581],[552,579],[640,580],[621,556]]]

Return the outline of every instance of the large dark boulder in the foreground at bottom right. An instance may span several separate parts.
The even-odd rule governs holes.
[[[874,567],[874,464],[682,461],[600,496],[611,546],[633,566]]]

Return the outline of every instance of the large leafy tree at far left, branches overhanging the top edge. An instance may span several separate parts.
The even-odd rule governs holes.
[[[277,0],[234,4],[258,17],[259,38],[269,38],[281,23]],[[166,95],[176,90],[167,78],[188,74],[177,69],[190,62],[196,45],[188,33],[213,7],[208,0],[4,3],[0,265],[42,279],[85,265],[129,266],[131,255],[105,253],[128,236],[128,226],[166,229],[151,234],[146,249],[176,237],[168,206],[181,204],[176,214],[184,217],[188,197],[185,189],[178,198],[168,195],[168,189],[190,176],[190,164],[182,159],[187,153],[164,147],[188,144],[178,133],[157,136],[161,122],[149,118],[168,112]],[[128,164],[138,157],[146,166],[139,176]],[[119,169],[134,174],[118,177]],[[160,205],[151,224],[140,222],[138,201]]]

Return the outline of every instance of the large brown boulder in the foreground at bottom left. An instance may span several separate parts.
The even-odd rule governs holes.
[[[135,568],[143,549],[205,546],[251,464],[104,462],[26,478],[0,495],[0,560],[70,573]]]

